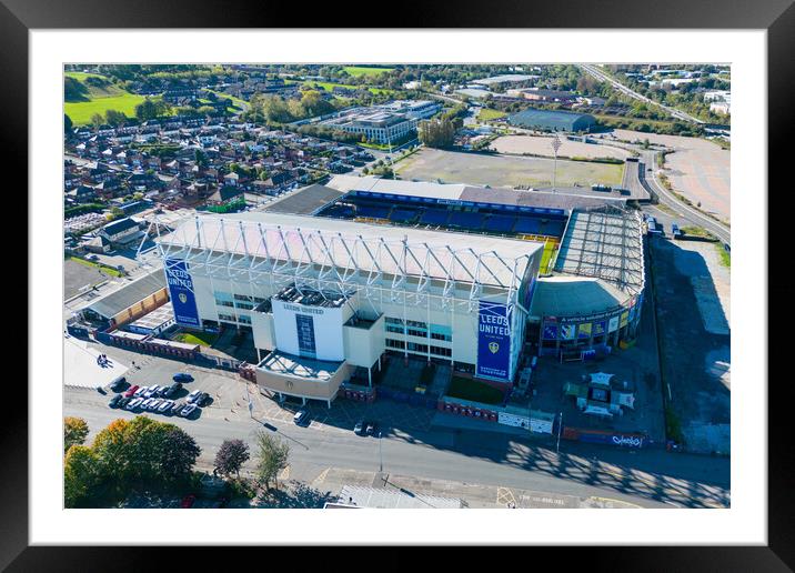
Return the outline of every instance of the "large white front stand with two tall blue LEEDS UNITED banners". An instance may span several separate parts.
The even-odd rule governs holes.
[[[261,388],[329,404],[385,352],[510,383],[543,250],[269,212],[198,217],[158,245],[179,324],[251,330]]]

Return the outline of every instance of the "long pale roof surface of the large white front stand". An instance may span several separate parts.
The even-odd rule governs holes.
[[[394,289],[407,289],[406,279],[412,278],[417,290],[440,279],[445,290],[463,282],[511,293],[543,248],[502,237],[255,211],[197,217],[158,243],[164,258],[238,271],[288,272],[304,279],[312,274],[338,283],[349,277],[355,282],[360,273],[386,274],[395,278]],[[320,268],[320,273],[305,273],[308,267]]]

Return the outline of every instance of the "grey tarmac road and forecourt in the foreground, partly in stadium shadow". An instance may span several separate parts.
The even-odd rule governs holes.
[[[237,374],[204,369],[159,356],[144,356],[123,349],[103,348],[110,356],[140,369],[130,371],[131,383],[165,383],[178,371],[191,372],[195,381],[185,392],[202,389],[212,402],[195,420],[169,418],[189,432],[202,448],[200,466],[211,466],[218,448],[225,439],[254,443],[258,432],[274,432],[291,448],[288,479],[311,483],[325,470],[374,472],[547,492],[575,497],[606,497],[643,507],[726,506],[728,460],[671,454],[662,450],[628,451],[610,446],[529,441],[519,436],[434,428],[434,411],[406,404],[376,401],[364,404],[338,400],[331,409],[310,406],[308,428],[292,423],[292,408],[260,396],[254,384]],[[252,396],[252,411],[248,400]],[[118,418],[135,414],[112,410],[109,395],[87,389],[64,389],[64,415],[84,418],[89,441]],[[378,409],[378,410],[376,410]],[[286,411],[286,412],[285,412]],[[322,418],[324,411],[328,418]],[[379,412],[382,439],[355,435],[351,421],[363,412]],[[147,413],[158,420],[161,414]],[[403,418],[401,418],[401,415]],[[316,418],[315,418],[316,416]],[[268,425],[265,425],[268,424]],[[253,462],[250,462],[252,464]]]

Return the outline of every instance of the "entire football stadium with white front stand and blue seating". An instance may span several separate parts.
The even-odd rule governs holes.
[[[643,296],[636,211],[560,193],[338,175],[157,242],[178,324],[251,332],[261,388],[329,404],[388,355],[507,388],[632,341]]]

